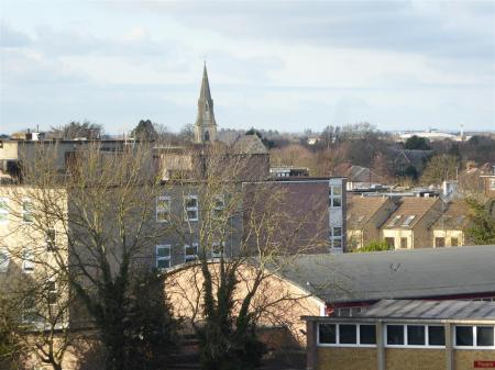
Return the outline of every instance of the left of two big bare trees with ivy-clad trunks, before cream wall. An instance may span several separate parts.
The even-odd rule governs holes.
[[[136,337],[143,346],[156,339],[143,332],[142,322],[131,319],[146,316],[145,306],[136,304],[134,285],[150,265],[156,239],[168,233],[155,223],[161,179],[152,148],[132,144],[108,153],[98,144],[87,145],[70,157],[63,173],[54,166],[56,150],[56,145],[40,146],[35,159],[25,161],[26,187],[22,193],[13,188],[11,199],[32,204],[31,222],[21,227],[29,229],[23,234],[33,238],[33,246],[46,237],[42,247],[33,247],[33,259],[67,282],[67,298],[76,301],[69,305],[72,329],[96,327],[106,368],[125,369],[130,357],[141,354],[144,361],[151,355],[134,350]],[[168,312],[165,301],[162,307]],[[168,323],[161,325],[168,335]]]

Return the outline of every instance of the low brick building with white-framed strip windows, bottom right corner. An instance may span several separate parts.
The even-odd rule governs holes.
[[[384,300],[359,316],[305,319],[308,370],[495,367],[495,302]]]

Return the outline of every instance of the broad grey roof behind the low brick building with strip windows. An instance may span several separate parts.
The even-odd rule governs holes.
[[[495,246],[301,255],[277,272],[327,303],[495,295]]]

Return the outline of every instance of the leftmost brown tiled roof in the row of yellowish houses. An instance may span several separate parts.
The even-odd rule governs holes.
[[[348,195],[348,228],[363,227],[387,201],[383,197]]]

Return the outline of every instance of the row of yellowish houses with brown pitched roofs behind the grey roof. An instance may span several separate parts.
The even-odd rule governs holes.
[[[349,249],[385,240],[392,249],[455,247],[468,244],[470,210],[462,199],[349,195]]]

